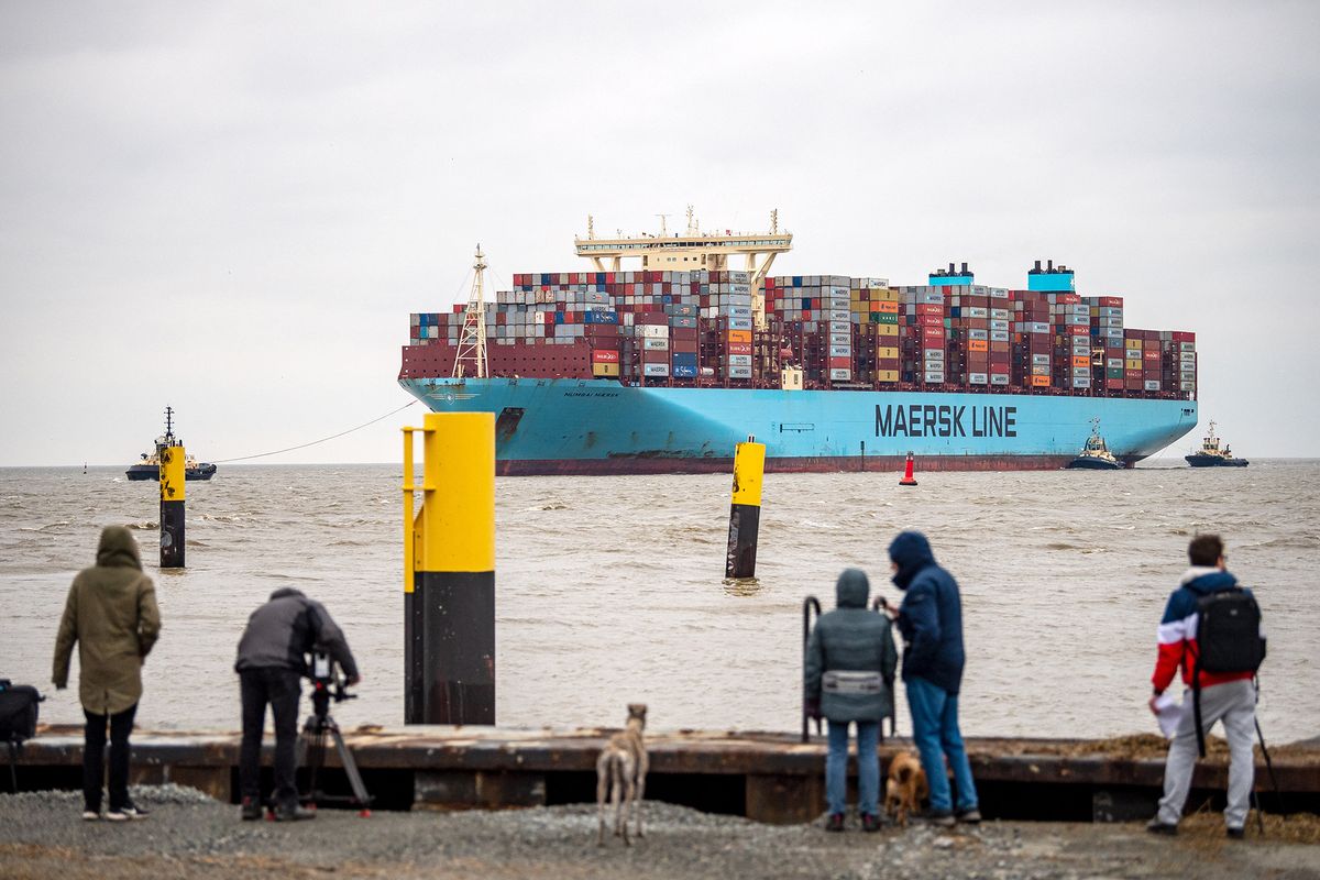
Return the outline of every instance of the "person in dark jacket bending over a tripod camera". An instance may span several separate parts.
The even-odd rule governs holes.
[[[285,587],[271,594],[269,602],[252,612],[239,640],[234,664],[243,695],[243,747],[239,753],[239,786],[243,792],[243,818],[261,818],[261,728],[265,706],[275,715],[275,818],[314,819],[315,813],[298,806],[294,785],[298,740],[298,697],[301,678],[308,674],[306,656],[325,650],[343,668],[350,685],[362,677],[343,632],[319,602]]]

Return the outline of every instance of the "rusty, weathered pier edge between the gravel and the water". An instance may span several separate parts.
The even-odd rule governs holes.
[[[380,807],[504,809],[591,801],[595,759],[612,732],[368,727],[346,731],[346,739]],[[269,767],[269,734],[263,745]],[[1148,818],[1164,774],[1163,756],[1102,747],[1088,740],[968,739],[982,811],[1006,819]],[[649,735],[647,749],[648,798],[768,823],[809,822],[824,811],[822,739],[804,744],[793,734],[682,731]],[[899,751],[915,752],[904,739],[888,740],[879,751],[882,767]],[[1275,747],[1271,755],[1283,809],[1320,813],[1320,743]],[[177,782],[234,802],[238,759],[236,732],[133,734],[135,782]],[[24,744],[18,786],[81,788],[81,764],[82,728],[46,726]],[[326,765],[331,774],[338,768],[333,751]],[[1200,761],[1189,806],[1222,794],[1226,784],[1226,755]],[[1255,788],[1263,809],[1276,811],[1280,805],[1259,756]]]

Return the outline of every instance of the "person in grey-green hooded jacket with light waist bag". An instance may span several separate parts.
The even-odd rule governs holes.
[[[858,813],[862,830],[880,827],[880,763],[875,752],[880,722],[894,715],[894,672],[898,652],[890,621],[866,608],[870,582],[866,573],[847,569],[838,575],[838,607],[821,615],[807,643],[803,670],[808,711],[829,720],[825,759],[826,830],[843,830],[847,806],[847,726],[857,723]]]

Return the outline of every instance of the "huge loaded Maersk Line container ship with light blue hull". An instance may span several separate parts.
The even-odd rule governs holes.
[[[1127,467],[1197,422],[1196,336],[1125,325],[1122,297],[1040,261],[1022,289],[966,263],[921,285],[771,276],[792,235],[576,239],[587,272],[515,274],[487,301],[414,313],[400,384],[434,412],[496,417],[502,475],[1045,470],[1093,420]],[[623,260],[640,260],[624,269]],[[741,268],[737,264],[742,263]]]

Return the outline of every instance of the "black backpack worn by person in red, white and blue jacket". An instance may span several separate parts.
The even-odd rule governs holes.
[[[1261,606],[1242,590],[1221,590],[1196,602],[1196,664],[1192,666],[1192,707],[1196,745],[1205,757],[1201,728],[1201,673],[1251,673],[1265,662]]]

